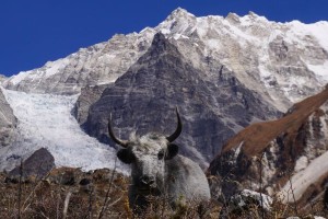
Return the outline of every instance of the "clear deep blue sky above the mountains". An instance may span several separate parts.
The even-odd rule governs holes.
[[[178,7],[197,16],[254,11],[279,22],[328,21],[328,0],[3,0],[0,73],[38,68],[116,33],[156,26]]]

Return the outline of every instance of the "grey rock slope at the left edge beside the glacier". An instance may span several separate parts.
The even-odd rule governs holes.
[[[0,147],[13,141],[16,124],[17,119],[0,89]]]

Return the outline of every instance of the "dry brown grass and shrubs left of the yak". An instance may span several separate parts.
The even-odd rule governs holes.
[[[112,181],[113,189],[108,193],[109,171],[79,174],[72,185],[55,183],[54,175],[51,180],[4,183],[5,175],[1,174],[0,218],[129,218],[126,177],[116,174]],[[59,171],[57,177],[62,175],[65,173]],[[92,184],[81,186],[81,178],[90,178]],[[20,186],[21,192],[17,189]],[[103,216],[99,217],[102,209]]]

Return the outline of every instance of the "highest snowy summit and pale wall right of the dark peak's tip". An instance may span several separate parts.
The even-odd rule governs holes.
[[[281,111],[328,82],[328,22],[277,23],[253,12],[196,18],[177,9],[155,30],[175,39],[179,48],[188,39],[201,57],[225,65]],[[190,48],[185,55],[194,66],[201,62]]]

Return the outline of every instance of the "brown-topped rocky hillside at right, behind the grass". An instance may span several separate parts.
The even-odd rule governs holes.
[[[320,194],[328,180],[327,101],[326,89],[284,117],[253,124],[230,139],[209,168],[222,180],[223,194],[230,197],[243,187],[273,194],[282,187],[282,200],[290,201],[289,178],[303,204]]]

